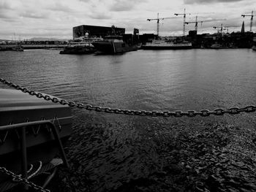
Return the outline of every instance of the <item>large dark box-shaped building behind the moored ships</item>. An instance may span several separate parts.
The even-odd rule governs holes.
[[[122,35],[125,34],[125,28],[117,28],[115,26],[75,26],[73,27],[73,40],[79,37],[105,37],[110,34]]]

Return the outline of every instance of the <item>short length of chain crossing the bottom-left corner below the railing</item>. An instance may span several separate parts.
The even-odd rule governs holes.
[[[41,186],[36,185],[36,184],[32,183],[31,181],[29,181],[29,180],[27,180],[25,178],[20,177],[19,175],[15,174],[15,173],[13,173],[13,172],[11,172],[9,170],[7,170],[5,167],[1,167],[0,166],[0,172],[3,172],[5,174],[8,174],[8,175],[12,176],[13,179],[17,180],[20,183],[25,183],[29,187],[34,188],[34,190],[36,190],[36,191],[50,192],[50,190],[42,188]]]

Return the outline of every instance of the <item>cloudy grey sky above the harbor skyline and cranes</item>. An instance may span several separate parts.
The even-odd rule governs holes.
[[[254,10],[252,31],[256,31],[255,0],[0,0],[0,39],[30,39],[48,37],[72,39],[72,28],[80,25],[116,26],[132,33],[138,28],[140,34],[157,34],[160,20],[160,36],[181,35],[183,15],[186,21],[217,20],[198,23],[198,34],[214,33],[213,26],[230,26],[229,32],[249,31],[250,17]],[[186,25],[186,34],[195,29],[195,23]]]

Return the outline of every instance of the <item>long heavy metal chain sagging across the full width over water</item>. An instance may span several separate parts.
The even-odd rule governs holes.
[[[213,111],[209,110],[200,110],[200,111],[194,111],[194,110],[189,110],[187,112],[182,112],[182,111],[144,111],[144,110],[120,110],[120,109],[111,109],[109,107],[98,107],[98,106],[92,106],[91,104],[82,104],[74,101],[67,101],[64,99],[58,99],[56,97],[50,97],[48,95],[38,93],[36,91],[31,91],[27,88],[23,88],[19,85],[15,85],[12,82],[8,82],[7,80],[4,80],[0,78],[0,82],[9,85],[12,88],[15,88],[17,90],[22,91],[23,93],[29,93],[31,96],[37,96],[38,98],[45,99],[46,101],[53,101],[53,103],[59,103],[63,105],[69,105],[69,107],[78,107],[79,109],[86,109],[86,110],[94,110],[97,112],[107,112],[107,113],[115,113],[115,114],[124,114],[124,115],[139,115],[139,116],[151,116],[151,117],[176,117],[176,118],[181,118],[183,116],[187,117],[195,117],[197,115],[200,115],[202,117],[207,117],[209,115],[225,115],[225,114],[231,114],[231,115],[236,115],[240,112],[255,112],[256,111],[256,106],[255,105],[249,105],[243,108],[238,108],[238,107],[232,107],[230,109],[224,110],[224,109],[216,109]]]

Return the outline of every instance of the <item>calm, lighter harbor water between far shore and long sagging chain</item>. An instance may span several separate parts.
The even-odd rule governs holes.
[[[200,110],[255,102],[252,50],[139,50],[124,55],[1,52],[0,75],[63,99],[134,110]]]

